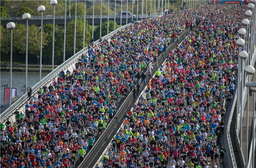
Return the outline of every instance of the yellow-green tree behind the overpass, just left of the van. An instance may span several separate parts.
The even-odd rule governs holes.
[[[93,7],[86,10],[86,15],[92,15]],[[94,15],[100,15],[100,3],[94,4]],[[108,15],[108,3],[102,2],[102,15]],[[109,15],[114,15],[114,11],[109,8]]]

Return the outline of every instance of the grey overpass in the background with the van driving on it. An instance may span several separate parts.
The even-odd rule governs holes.
[[[157,16],[157,14],[155,14]],[[152,14],[152,17],[154,17],[154,14]],[[83,15],[81,16],[76,16],[76,18],[84,18]],[[88,24],[92,25],[92,18],[93,16],[86,16],[86,20],[88,20]],[[114,21],[115,15],[109,15],[109,20]],[[143,19],[148,18],[148,15],[143,15]],[[75,16],[67,16],[66,22],[69,23],[72,19],[75,19]],[[108,15],[102,15],[102,23],[105,21],[108,21]],[[133,18],[134,21],[137,20],[137,16]],[[141,20],[141,14],[138,15],[138,20]],[[15,22],[18,24],[26,24],[26,20],[22,19],[22,17],[10,17],[10,18],[1,18],[1,25],[6,26],[8,22]],[[127,19],[128,23],[132,22],[132,18]],[[43,16],[43,24],[47,23],[53,23],[53,16]],[[64,25],[65,23],[65,16],[55,16],[55,24],[56,25]],[[116,23],[117,25],[120,25],[121,23],[121,18],[116,17]],[[126,24],[126,16],[122,16],[122,25]],[[31,19],[28,21],[28,25],[41,25],[41,17],[40,16],[33,16]],[[100,25],[100,15],[94,15],[94,25]]]

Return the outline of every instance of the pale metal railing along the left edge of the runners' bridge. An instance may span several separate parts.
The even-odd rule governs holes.
[[[121,29],[123,29],[123,28],[125,28],[126,26],[129,26],[129,25],[131,25],[131,23],[129,23],[127,25],[124,25],[122,27],[119,27],[115,31],[113,31],[113,32],[107,34],[106,36],[104,36],[103,39],[110,38],[112,35],[114,35],[118,31],[120,31]],[[100,40],[97,40],[97,41],[94,42],[94,44],[97,44],[97,45],[99,43],[100,43]],[[44,84],[49,84],[50,82],[52,82],[52,79],[58,76],[58,73],[61,71],[61,69],[68,69],[69,66],[71,66],[73,63],[76,62],[76,60],[78,60],[80,55],[82,55],[84,52],[86,52],[88,50],[89,50],[89,47],[87,46],[84,49],[77,52],[72,57],[70,57],[67,61],[63,62],[60,66],[58,66],[52,72],[50,72],[46,77],[44,77],[34,87],[32,87],[32,94],[31,95],[35,95],[37,93],[38,89],[40,87],[42,87]],[[27,100],[28,100],[28,93],[25,93],[20,99],[18,99],[15,103],[13,103],[12,106],[7,108],[3,113],[0,114],[1,122],[5,121],[7,118],[12,116],[12,114],[13,114],[12,112],[17,108],[19,109],[20,107],[22,107],[26,103]]]

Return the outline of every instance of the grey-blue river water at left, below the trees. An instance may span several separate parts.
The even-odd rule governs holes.
[[[48,73],[42,73],[42,79],[48,75]],[[17,96],[23,95],[20,92],[20,88],[25,85],[25,72],[12,72],[12,88],[17,88]],[[33,87],[39,82],[39,72],[28,72],[28,87]],[[10,72],[0,72],[0,98],[4,98],[4,84],[10,86]]]

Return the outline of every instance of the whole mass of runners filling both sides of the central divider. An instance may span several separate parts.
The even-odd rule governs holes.
[[[76,160],[83,160],[97,135],[106,129],[120,100],[131,91],[137,92],[137,83],[140,79],[144,81],[146,72],[151,73],[152,63],[159,54],[186,27],[192,29],[194,24],[198,25],[199,31],[191,33],[189,39],[169,55],[166,69],[160,68],[156,72],[157,77],[148,84],[147,99],[130,113],[125,121],[127,128],[118,135],[120,147],[117,148],[117,136],[112,154],[120,152],[122,159],[118,165],[121,167],[140,164],[137,162],[140,155],[145,157],[142,162],[146,163],[154,151],[155,141],[157,152],[153,152],[154,157],[162,157],[168,151],[165,149],[170,149],[173,154],[178,151],[174,155],[177,162],[181,156],[183,160],[191,158],[194,162],[196,155],[192,157],[187,153],[188,157],[184,157],[179,146],[191,143],[196,152],[202,151],[202,143],[206,142],[198,139],[199,135],[201,137],[198,130],[204,131],[201,128],[204,121],[206,125],[211,124],[205,132],[212,135],[211,143],[207,142],[206,146],[216,148],[217,130],[222,131],[218,128],[223,124],[220,116],[225,113],[221,104],[224,98],[232,97],[231,88],[234,88],[235,76],[232,74],[237,51],[233,41],[237,38],[234,34],[239,28],[238,17],[242,17],[239,14],[241,7],[233,7],[205,5],[170,12],[159,18],[136,22],[116,33],[110,42],[103,40],[93,46],[81,55],[73,72],[62,70],[57,80],[40,88],[25,105],[25,114],[16,110],[14,123],[9,120],[1,123],[1,167],[75,167]],[[209,21],[215,15],[224,20],[215,20],[211,25]],[[201,22],[207,24],[201,25]],[[171,142],[166,141],[167,134],[162,134],[166,131],[172,134]],[[183,141],[187,137],[189,139]],[[130,154],[127,151],[129,145]],[[111,165],[115,155],[110,151],[108,156],[107,162]],[[172,155],[169,156],[168,162]],[[164,165],[162,161],[154,159],[154,164]],[[113,166],[117,167],[117,164]]]

